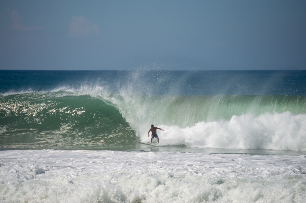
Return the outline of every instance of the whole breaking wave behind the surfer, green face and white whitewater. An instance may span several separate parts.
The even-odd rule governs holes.
[[[0,95],[4,148],[91,148],[144,141],[161,145],[306,151],[306,97],[152,95],[100,85]]]

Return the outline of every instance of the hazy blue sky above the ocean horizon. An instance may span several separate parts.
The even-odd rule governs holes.
[[[306,70],[305,0],[1,0],[1,70]]]

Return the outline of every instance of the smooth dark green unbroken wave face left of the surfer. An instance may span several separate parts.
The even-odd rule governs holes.
[[[135,137],[115,107],[91,96],[56,94],[1,96],[2,147],[106,147]]]

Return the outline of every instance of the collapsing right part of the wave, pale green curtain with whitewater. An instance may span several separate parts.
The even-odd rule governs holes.
[[[120,95],[113,102],[142,141],[150,124],[161,145],[306,150],[305,97]]]

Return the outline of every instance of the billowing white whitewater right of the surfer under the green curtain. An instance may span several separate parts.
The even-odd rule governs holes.
[[[147,132],[149,125],[139,132]],[[199,148],[222,149],[272,149],[306,151],[306,115],[251,114],[233,116],[230,121],[199,122],[181,128],[156,125],[165,129],[158,131],[161,145],[180,145]],[[143,142],[147,136],[141,135]]]

